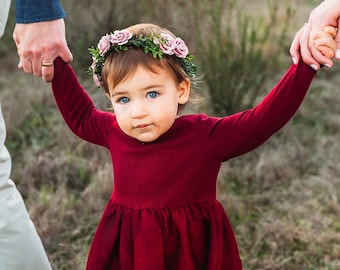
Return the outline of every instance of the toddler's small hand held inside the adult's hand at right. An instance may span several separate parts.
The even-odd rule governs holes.
[[[326,56],[330,60],[332,60],[335,56],[336,34],[337,29],[333,26],[326,26],[323,31],[316,31],[311,33],[311,38],[315,42],[316,49],[318,49],[324,56]]]

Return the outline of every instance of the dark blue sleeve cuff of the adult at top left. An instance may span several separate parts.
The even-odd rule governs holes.
[[[33,23],[64,18],[59,0],[15,0],[16,22]]]

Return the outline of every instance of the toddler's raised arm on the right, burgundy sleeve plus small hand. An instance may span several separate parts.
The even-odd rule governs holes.
[[[317,49],[329,59],[335,55],[335,33],[335,29],[330,27],[314,34]],[[223,144],[219,144],[219,149],[224,149],[224,153],[229,151],[225,160],[255,149],[279,131],[298,110],[313,79],[313,74],[315,71],[313,72],[303,61],[300,61],[288,70],[254,109],[222,120],[220,127],[224,127],[225,130],[221,131],[221,134],[229,135]],[[219,140],[221,141],[223,138]],[[232,142],[232,145],[228,142]]]

